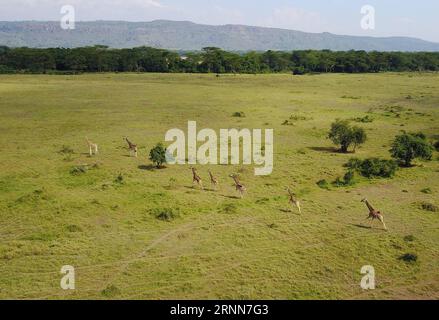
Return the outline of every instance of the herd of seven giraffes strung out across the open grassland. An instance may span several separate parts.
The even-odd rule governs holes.
[[[98,154],[98,145],[96,143],[91,142],[87,137],[85,139],[86,139],[87,144],[88,144],[90,156],[97,155]],[[137,158],[138,157],[137,145],[132,143],[130,140],[128,140],[128,138],[125,138],[124,140],[128,143],[128,149],[130,151],[130,155]],[[192,170],[192,184],[193,185],[197,184],[201,189],[204,189],[203,180],[201,179],[200,175],[198,174],[197,169],[191,167],[191,170]],[[208,173],[209,173],[209,177],[210,177],[210,183],[211,183],[213,189],[216,190],[219,186],[219,180],[217,177],[215,177],[213,175],[212,171],[208,170]],[[244,197],[244,193],[247,191],[247,188],[239,181],[238,175],[232,174],[232,175],[230,175],[230,177],[233,179],[236,191],[240,194],[240,198],[242,199]],[[287,192],[288,192],[288,196],[289,196],[289,198],[288,198],[289,203],[293,207],[296,207],[299,210],[299,213],[301,214],[302,209],[300,207],[300,202],[297,199],[296,194],[294,194],[289,187],[287,187]],[[366,220],[371,219],[371,222],[373,222],[374,220],[380,221],[383,224],[384,230],[387,231],[387,226],[384,222],[383,214],[380,211],[375,210],[367,199],[363,199],[363,200],[361,200],[361,202],[364,202],[366,204],[367,208],[369,209],[369,216],[367,217]]]

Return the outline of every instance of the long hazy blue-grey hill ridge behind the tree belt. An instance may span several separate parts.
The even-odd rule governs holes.
[[[243,25],[210,26],[187,21],[77,22],[75,30],[62,30],[59,22],[0,22],[0,45],[47,48],[97,44],[113,48],[151,46],[171,50],[215,46],[230,51],[439,51],[438,43],[416,38],[341,36]]]

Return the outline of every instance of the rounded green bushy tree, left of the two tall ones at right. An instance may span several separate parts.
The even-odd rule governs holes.
[[[337,120],[331,125],[328,138],[335,145],[340,145],[341,152],[347,153],[351,145],[355,149],[366,142],[367,135],[364,129],[360,127],[351,127],[347,120]]]

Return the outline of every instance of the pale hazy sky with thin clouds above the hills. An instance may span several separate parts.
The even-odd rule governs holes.
[[[59,20],[66,4],[77,20],[190,20],[439,42],[438,0],[0,0],[0,21]],[[361,29],[364,5],[375,7],[375,30]]]

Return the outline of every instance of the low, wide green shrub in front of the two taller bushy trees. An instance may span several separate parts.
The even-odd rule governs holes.
[[[346,164],[346,167],[359,172],[366,178],[391,178],[395,175],[395,172],[398,169],[398,165],[395,161],[378,158],[369,158],[365,160],[352,158]]]

